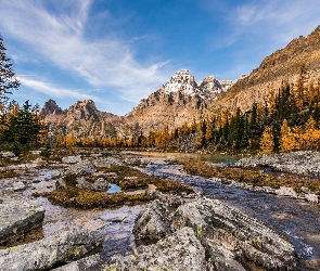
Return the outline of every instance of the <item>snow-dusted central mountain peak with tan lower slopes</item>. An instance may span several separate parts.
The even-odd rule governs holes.
[[[232,83],[226,80],[221,85],[213,76],[196,82],[189,70],[179,70],[167,83],[143,99],[126,119],[139,124],[143,132],[179,127],[197,119]]]

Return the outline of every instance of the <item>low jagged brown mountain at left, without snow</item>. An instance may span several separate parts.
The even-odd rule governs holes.
[[[124,117],[98,111],[91,100],[78,101],[66,111],[62,111],[53,100],[49,100],[41,108],[40,115],[44,115],[49,134],[53,139],[59,134],[104,138],[133,133]]]

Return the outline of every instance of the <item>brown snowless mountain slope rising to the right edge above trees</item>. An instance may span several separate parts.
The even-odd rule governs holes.
[[[239,80],[228,92],[219,95],[214,107],[234,112],[251,108],[252,103],[270,101],[282,81],[295,83],[304,70],[305,82],[317,82],[320,75],[320,26],[309,36],[292,40],[285,48],[277,50],[263,60],[260,66],[247,77]]]

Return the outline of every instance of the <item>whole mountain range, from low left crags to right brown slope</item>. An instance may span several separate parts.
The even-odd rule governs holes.
[[[183,122],[199,120],[213,111],[248,111],[253,102],[268,102],[282,81],[294,83],[302,68],[306,82],[320,78],[320,26],[308,37],[291,41],[267,56],[248,76],[238,80],[217,80],[213,76],[196,82],[182,69],[151,93],[126,116],[97,109],[94,102],[77,102],[61,109],[49,100],[40,114],[46,116],[51,134],[78,137],[131,137]]]

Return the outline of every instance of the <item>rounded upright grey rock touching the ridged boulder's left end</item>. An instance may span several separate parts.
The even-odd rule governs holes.
[[[169,211],[158,199],[145,205],[135,221],[133,234],[137,245],[149,245],[171,232]]]

